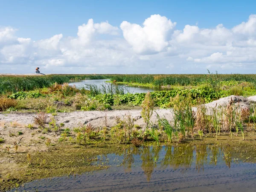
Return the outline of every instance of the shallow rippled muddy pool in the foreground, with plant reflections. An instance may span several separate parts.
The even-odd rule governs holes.
[[[98,156],[109,169],[35,180],[19,191],[256,191],[256,164],[229,147],[131,147]],[[15,191],[15,190],[13,190]]]

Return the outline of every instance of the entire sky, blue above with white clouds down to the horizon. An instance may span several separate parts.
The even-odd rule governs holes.
[[[0,0],[0,73],[255,73],[256,1]]]

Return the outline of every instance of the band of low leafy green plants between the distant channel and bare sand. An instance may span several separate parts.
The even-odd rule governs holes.
[[[237,81],[220,81],[204,83],[192,87],[175,87],[172,90],[162,90],[150,93],[154,107],[172,108],[175,96],[190,97],[192,106],[198,104],[200,99],[204,103],[212,102],[229,95],[252,96],[256,89],[252,83]],[[235,84],[235,85],[234,85]],[[100,87],[87,85],[78,89],[69,86],[52,84],[48,88],[37,89],[29,92],[19,91],[8,96],[0,96],[0,111],[35,110],[47,113],[69,112],[75,110],[112,110],[131,109],[141,106],[146,93],[125,93],[125,87],[113,84],[104,84]]]

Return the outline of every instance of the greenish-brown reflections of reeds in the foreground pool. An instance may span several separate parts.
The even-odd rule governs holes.
[[[228,146],[177,145],[131,147],[119,155],[122,158],[120,166],[125,172],[141,169],[150,181],[154,169],[183,168],[182,170],[186,172],[186,168],[195,168],[199,173],[204,172],[205,166],[226,165],[230,168],[232,157],[238,154],[236,151],[232,154],[232,148]]]

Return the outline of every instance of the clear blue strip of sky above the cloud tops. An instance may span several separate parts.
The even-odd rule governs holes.
[[[141,24],[154,14],[177,22],[177,29],[196,23],[202,28],[219,23],[231,28],[255,13],[256,7],[253,0],[1,0],[0,4],[0,25],[15,27],[18,35],[33,40],[59,33],[76,35],[77,26],[90,18],[119,26],[123,20]]]

